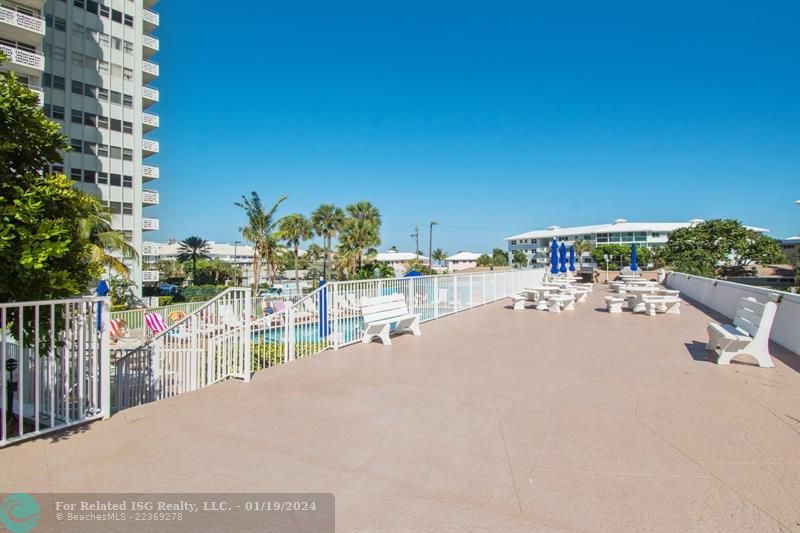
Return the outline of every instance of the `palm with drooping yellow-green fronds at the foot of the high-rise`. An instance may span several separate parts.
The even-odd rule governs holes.
[[[136,248],[125,240],[122,232],[111,228],[111,214],[103,209],[99,202],[97,209],[90,216],[81,219],[79,231],[89,242],[86,246],[89,261],[100,263],[126,278],[130,276],[130,269],[122,259],[137,259],[139,254]],[[112,255],[114,252],[117,252],[122,259]]]

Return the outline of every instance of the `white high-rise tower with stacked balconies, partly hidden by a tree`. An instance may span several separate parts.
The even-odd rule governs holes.
[[[150,188],[158,154],[150,137],[159,117],[151,84],[159,67],[152,56],[159,41],[157,0],[2,0],[0,50],[10,60],[2,68],[43,97],[45,113],[62,124],[72,151],[54,166],[94,194],[112,213],[114,229],[143,255],[142,233],[158,229],[147,208],[159,203]],[[145,188],[147,185],[147,188]],[[158,281],[131,262],[133,280]]]

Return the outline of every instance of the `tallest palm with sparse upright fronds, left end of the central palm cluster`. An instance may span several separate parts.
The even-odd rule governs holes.
[[[250,198],[242,196],[242,201],[234,204],[244,209],[247,216],[247,224],[239,228],[239,231],[245,240],[253,243],[253,275],[255,277],[253,294],[258,291],[258,284],[261,281],[262,261],[270,267],[272,276],[270,284],[275,281],[274,266],[278,262],[280,248],[275,235],[275,227],[278,224],[275,213],[278,211],[278,206],[287,198],[288,196],[281,196],[271,209],[265,210],[258,193],[253,191],[250,193]]]

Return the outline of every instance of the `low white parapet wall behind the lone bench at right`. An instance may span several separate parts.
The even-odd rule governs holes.
[[[800,355],[800,295],[752,287],[680,272],[670,272],[667,287],[695,300],[733,320],[739,300],[752,296],[759,302],[778,302],[778,313],[772,324],[770,339]]]

